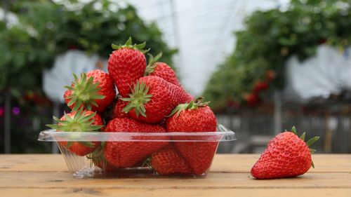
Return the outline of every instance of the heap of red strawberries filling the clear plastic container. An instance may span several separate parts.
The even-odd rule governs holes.
[[[65,114],[57,131],[70,132],[215,132],[213,111],[180,85],[176,73],[150,55],[146,62],[145,43],[112,44],[108,73],[93,70],[65,86],[64,98],[72,112]],[[118,95],[115,90],[118,89]],[[107,112],[113,108],[112,113]],[[106,115],[107,114],[107,115]],[[140,140],[147,137],[140,137]],[[155,139],[152,139],[155,140]],[[59,142],[78,156],[89,156],[105,171],[140,166],[145,161],[161,175],[201,175],[211,165],[218,142],[168,142],[160,135],[157,142]],[[173,140],[187,140],[178,137]]]

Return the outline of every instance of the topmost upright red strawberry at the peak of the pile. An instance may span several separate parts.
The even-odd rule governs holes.
[[[145,43],[132,45],[131,38],[124,45],[114,45],[114,51],[108,60],[107,69],[117,86],[119,95],[126,97],[131,92],[130,86],[145,73],[146,59],[143,50]]]

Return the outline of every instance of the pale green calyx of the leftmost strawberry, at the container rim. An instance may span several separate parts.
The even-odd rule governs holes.
[[[65,113],[64,117],[65,120],[60,120],[59,118],[53,116],[53,119],[58,122],[58,124],[51,125],[48,124],[49,128],[53,128],[55,130],[60,130],[60,131],[69,131],[69,132],[91,132],[91,131],[96,131],[99,130],[100,128],[103,127],[103,125],[92,125],[95,119],[93,118],[96,115],[96,112],[93,114],[90,114],[86,116],[86,112],[83,111],[82,108],[79,108],[79,110],[74,114],[73,117],[70,117],[68,114]],[[71,137],[71,140],[74,140],[75,138],[79,138],[79,136],[75,135],[74,137]],[[90,147],[93,148],[95,145],[92,142],[78,142],[79,144],[84,145],[85,147]],[[67,142],[67,148],[71,147],[73,144],[73,141],[68,141]]]

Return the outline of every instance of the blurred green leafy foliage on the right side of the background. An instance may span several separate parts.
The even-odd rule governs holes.
[[[284,88],[284,65],[291,55],[303,61],[322,43],[340,51],[350,46],[351,1],[292,0],[286,11],[274,8],[252,13],[245,25],[235,33],[233,53],[206,86],[204,96],[214,109],[223,109],[228,102],[245,104],[245,95],[253,94],[255,84],[267,81],[267,71],[276,73],[268,81],[270,90]]]

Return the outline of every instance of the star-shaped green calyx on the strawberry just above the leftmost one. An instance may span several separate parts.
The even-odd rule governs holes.
[[[91,110],[92,105],[98,107],[95,100],[105,98],[105,95],[98,93],[101,89],[98,87],[99,82],[93,83],[93,77],[86,79],[86,73],[82,73],[80,79],[78,79],[76,74],[73,74],[73,76],[72,86],[65,86],[65,88],[72,91],[72,94],[67,97],[69,99],[67,105],[72,106],[74,104],[73,111],[77,111],[81,106],[88,110]]]

